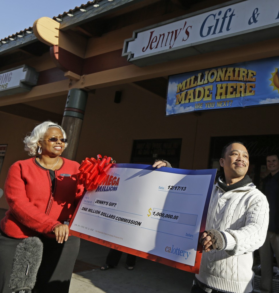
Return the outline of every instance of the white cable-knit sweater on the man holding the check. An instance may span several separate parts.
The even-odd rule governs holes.
[[[265,241],[268,216],[266,196],[253,183],[228,192],[214,185],[206,230],[223,231],[226,245],[202,253],[197,279],[223,292],[251,292],[253,251]]]

